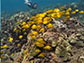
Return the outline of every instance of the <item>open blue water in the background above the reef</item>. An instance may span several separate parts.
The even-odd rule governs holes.
[[[46,6],[53,6],[57,3],[61,5],[77,2],[77,0],[31,0],[32,2],[36,2],[38,4],[38,9]],[[28,7],[25,5],[24,0],[2,0],[1,1],[2,11],[5,12],[13,12],[18,10],[24,10]]]

